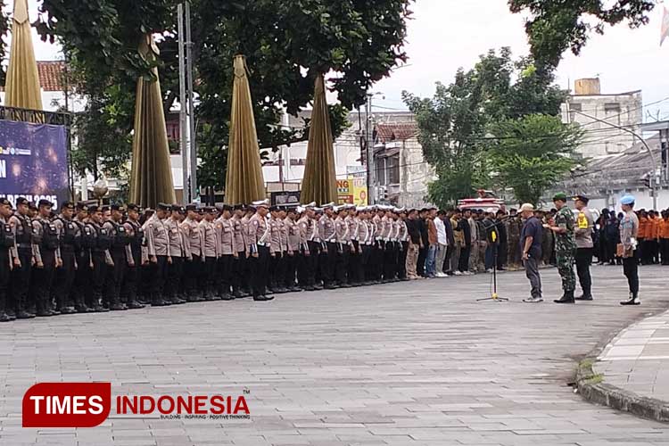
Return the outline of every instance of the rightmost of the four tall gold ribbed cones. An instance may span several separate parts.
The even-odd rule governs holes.
[[[311,111],[307,164],[304,168],[300,201],[316,202],[318,205],[337,202],[335,150],[323,75],[318,75],[314,88],[314,109]]]

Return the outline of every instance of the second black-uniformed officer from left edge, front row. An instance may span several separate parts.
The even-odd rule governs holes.
[[[28,290],[32,271],[32,226],[28,217],[29,202],[23,197],[16,199],[16,211],[9,219],[16,242],[16,257],[10,281],[9,307],[17,319],[35,318],[28,310]]]

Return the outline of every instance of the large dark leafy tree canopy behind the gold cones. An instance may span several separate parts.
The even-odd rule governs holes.
[[[44,0],[38,29],[62,41],[87,85],[101,85],[103,110],[128,114],[134,82],[149,66],[136,46],[145,32],[161,35],[159,74],[165,110],[178,99],[178,52],[174,0]],[[232,59],[245,54],[260,146],[304,141],[301,128],[278,126],[282,110],[307,106],[319,72],[327,73],[340,104],[333,106],[333,132],[339,135],[346,109],[365,101],[374,82],[406,60],[402,49],[410,0],[193,0],[194,71],[196,77],[200,186],[222,186],[233,85]],[[97,25],[100,25],[99,27]],[[106,89],[120,86],[127,97]],[[99,90],[98,88],[95,88]],[[130,116],[132,108],[130,107]],[[131,121],[114,121],[104,113],[98,128],[130,134]],[[129,145],[127,147],[129,153]],[[109,157],[110,159],[115,157]]]

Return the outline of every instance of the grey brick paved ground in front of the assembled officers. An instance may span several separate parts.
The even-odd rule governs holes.
[[[617,304],[620,269],[596,267],[597,301],[574,306],[523,304],[524,274],[505,273],[508,303],[475,302],[480,276],[3,324],[0,444],[669,444],[669,426],[567,386],[598,343],[669,307],[666,271],[641,270],[636,308]],[[555,290],[556,271],[542,274]],[[31,384],[89,380],[114,394],[246,388],[252,419],[21,428]]]

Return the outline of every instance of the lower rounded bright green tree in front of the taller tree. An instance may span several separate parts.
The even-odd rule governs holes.
[[[491,132],[496,136],[486,151],[491,178],[496,186],[513,190],[519,203],[538,204],[541,195],[577,164],[573,155],[582,130],[557,116],[501,120],[491,125]]]

